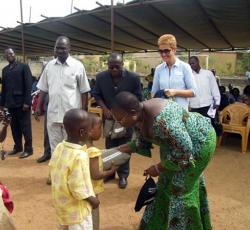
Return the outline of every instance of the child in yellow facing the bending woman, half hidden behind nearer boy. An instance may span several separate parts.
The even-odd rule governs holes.
[[[90,158],[90,174],[96,197],[104,191],[103,178],[116,172],[119,166],[112,165],[111,169],[103,171],[102,152],[93,146],[93,141],[100,139],[102,135],[102,119],[96,114],[89,113],[91,128],[89,131],[89,143],[87,153]],[[93,229],[99,230],[99,208],[92,211]]]

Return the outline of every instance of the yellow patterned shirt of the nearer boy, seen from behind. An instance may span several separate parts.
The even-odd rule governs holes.
[[[89,171],[87,146],[63,141],[49,163],[53,204],[61,225],[81,223],[92,211],[85,200],[95,196]]]

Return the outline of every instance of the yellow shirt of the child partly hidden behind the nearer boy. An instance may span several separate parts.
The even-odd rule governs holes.
[[[89,158],[95,158],[98,157],[99,159],[99,170],[102,172],[103,171],[103,162],[102,162],[102,152],[100,149],[96,147],[90,147],[87,149],[87,153],[89,155]],[[103,180],[92,180],[92,185],[95,194],[99,194],[104,191],[104,186],[103,186]]]

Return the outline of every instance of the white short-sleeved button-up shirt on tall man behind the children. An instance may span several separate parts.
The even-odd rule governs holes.
[[[56,123],[63,122],[68,110],[81,108],[81,94],[90,91],[83,64],[70,56],[63,64],[58,59],[51,60],[37,88],[49,94],[47,118]]]

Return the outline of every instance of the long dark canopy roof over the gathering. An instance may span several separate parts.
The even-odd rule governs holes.
[[[111,7],[79,11],[24,24],[25,53],[51,55],[58,36],[71,40],[72,53],[110,52]],[[165,33],[183,50],[235,50],[250,47],[250,0],[139,0],[114,6],[114,49],[157,49]],[[21,26],[0,31],[0,48],[21,53]]]

